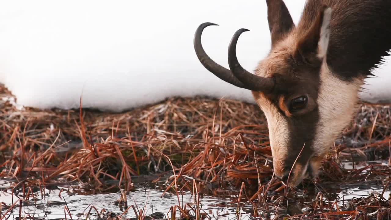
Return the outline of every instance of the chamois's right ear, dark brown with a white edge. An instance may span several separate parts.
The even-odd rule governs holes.
[[[332,9],[323,5],[314,23],[298,41],[297,55],[307,57],[310,54],[316,54],[319,59],[325,58],[330,39],[331,13]]]

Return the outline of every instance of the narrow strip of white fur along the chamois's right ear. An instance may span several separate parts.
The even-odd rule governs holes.
[[[326,56],[328,41],[330,39],[330,20],[331,20],[331,8],[326,8],[323,13],[323,22],[320,29],[320,39],[319,39],[319,51],[317,56],[322,59]]]

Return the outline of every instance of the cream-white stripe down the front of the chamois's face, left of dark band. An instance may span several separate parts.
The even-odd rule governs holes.
[[[275,168],[282,168],[281,164],[286,158],[289,142],[289,127],[285,117],[278,111],[267,97],[262,94],[256,99],[256,102],[264,112],[267,126],[269,128],[269,140],[273,153],[273,163]],[[276,165],[278,164],[278,165]],[[281,170],[278,170],[280,172]],[[279,173],[281,174],[281,173]]]

